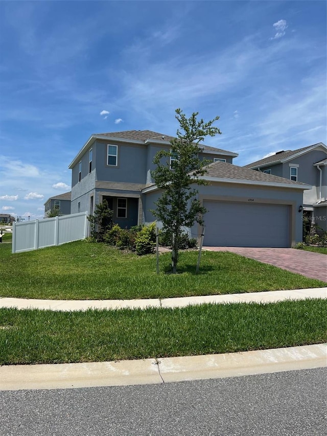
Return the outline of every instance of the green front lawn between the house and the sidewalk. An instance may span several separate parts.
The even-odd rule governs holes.
[[[233,253],[180,254],[179,273],[170,274],[170,254],[139,257],[104,244],[77,241],[11,254],[0,246],[0,296],[62,300],[165,298],[276,289],[323,287],[325,283]]]

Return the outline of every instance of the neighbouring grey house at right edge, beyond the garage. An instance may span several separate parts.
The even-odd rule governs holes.
[[[303,192],[303,216],[327,231],[327,147],[323,143],[279,151],[244,168],[311,185]]]

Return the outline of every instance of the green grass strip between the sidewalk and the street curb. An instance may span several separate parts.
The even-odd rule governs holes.
[[[327,301],[52,312],[0,309],[0,364],[94,362],[327,341]]]

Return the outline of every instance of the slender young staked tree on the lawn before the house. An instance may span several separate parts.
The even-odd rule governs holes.
[[[176,109],[175,118],[179,122],[176,138],[171,141],[171,149],[160,150],[153,163],[157,166],[152,176],[158,188],[163,192],[155,202],[156,209],[152,213],[162,222],[165,231],[173,236],[172,267],[177,271],[178,249],[183,227],[192,227],[195,222],[203,224],[202,215],[206,212],[196,198],[198,191],[193,185],[206,185],[201,179],[207,171],[206,161],[201,161],[198,153],[199,143],[206,136],[221,134],[213,123],[219,117],[205,123],[197,120],[199,112],[186,118],[181,109]],[[167,159],[163,159],[163,158]],[[166,162],[164,162],[166,160]]]

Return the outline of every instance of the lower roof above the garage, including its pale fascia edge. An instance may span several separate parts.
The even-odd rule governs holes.
[[[207,173],[200,178],[208,181],[216,181],[222,183],[242,183],[243,185],[260,185],[276,188],[295,188],[295,189],[311,189],[310,185],[286,179],[284,177],[274,176],[272,174],[253,171],[237,165],[228,164],[227,162],[214,162],[206,166]],[[192,172],[190,173],[192,174]],[[145,188],[142,192],[148,192],[157,189],[153,184],[151,187]]]

